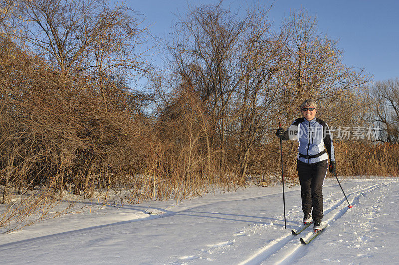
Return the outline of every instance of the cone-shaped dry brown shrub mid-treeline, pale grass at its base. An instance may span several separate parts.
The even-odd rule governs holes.
[[[156,194],[154,199],[173,197],[179,201],[201,196],[212,185],[230,186],[228,174],[215,167],[219,150],[208,148],[207,137],[212,132],[204,113],[196,93],[190,86],[182,86],[180,96],[172,100],[154,124],[145,172],[146,181],[153,183],[145,192]],[[221,175],[225,179],[217,177]]]

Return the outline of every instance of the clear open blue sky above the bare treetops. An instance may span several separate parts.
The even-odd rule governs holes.
[[[187,5],[214,3],[215,0],[126,0],[126,5],[143,13],[151,31],[158,37],[171,32],[176,13]],[[235,10],[246,4],[270,6],[273,1],[224,0]],[[241,8],[243,9],[243,8]],[[304,9],[318,20],[319,31],[340,39],[344,63],[364,67],[375,81],[399,77],[399,0],[275,0],[269,19],[279,25],[284,15]]]

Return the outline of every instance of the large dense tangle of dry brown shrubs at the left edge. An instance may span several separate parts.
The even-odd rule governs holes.
[[[136,95],[119,80],[108,80],[112,100],[104,106],[89,76],[66,78],[7,39],[1,39],[1,47],[3,203],[17,192],[21,204],[15,209],[29,215],[34,205],[44,207],[42,196],[59,199],[67,190],[93,197],[95,188],[127,186],[144,171],[131,164],[144,153],[138,146],[143,115],[132,111]],[[26,193],[35,185],[45,187],[37,200]],[[30,206],[22,207],[23,202]],[[6,211],[3,220],[12,212]]]

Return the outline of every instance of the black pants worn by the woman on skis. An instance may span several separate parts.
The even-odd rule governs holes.
[[[312,211],[313,221],[323,218],[323,183],[327,174],[328,162],[307,164],[297,161],[299,181],[301,182],[302,210],[305,214]]]

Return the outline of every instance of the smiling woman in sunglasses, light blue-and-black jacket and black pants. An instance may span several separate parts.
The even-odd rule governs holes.
[[[324,178],[327,168],[331,173],[336,168],[334,146],[328,125],[316,118],[316,101],[305,100],[300,112],[302,118],[296,119],[287,131],[278,129],[276,135],[283,140],[299,141],[297,170],[301,183],[303,222],[307,224],[313,219],[313,229],[317,232],[322,230]]]

